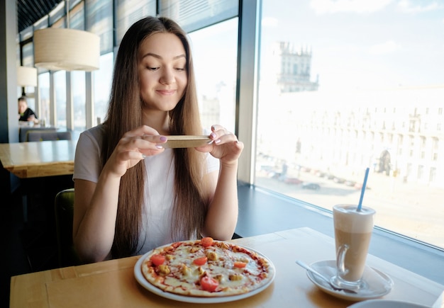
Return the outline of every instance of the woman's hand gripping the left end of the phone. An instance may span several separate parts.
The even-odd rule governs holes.
[[[157,130],[147,125],[126,132],[106,161],[103,171],[121,177],[145,156],[162,153],[164,149],[161,144],[165,142],[167,137],[159,135]]]

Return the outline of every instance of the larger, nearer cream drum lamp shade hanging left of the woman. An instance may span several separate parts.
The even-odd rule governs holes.
[[[99,35],[82,30],[46,28],[34,32],[36,67],[57,71],[99,69]]]

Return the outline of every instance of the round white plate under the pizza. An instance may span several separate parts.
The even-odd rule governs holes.
[[[165,245],[165,246],[170,246],[170,244]],[[240,245],[238,245],[238,246],[240,246]],[[162,246],[162,247],[164,247],[164,246]],[[159,248],[162,248],[162,247],[159,247]],[[195,304],[215,304],[218,302],[233,302],[235,300],[242,300],[244,298],[251,297],[251,296],[256,295],[257,293],[260,293],[263,290],[265,290],[269,285],[271,285],[271,283],[274,280],[274,276],[276,275],[276,269],[274,268],[274,265],[273,265],[272,261],[270,261],[269,258],[264,256],[262,253],[255,251],[254,249],[250,249],[245,246],[242,246],[242,247],[245,249],[248,249],[249,251],[254,251],[262,258],[265,258],[267,260],[267,262],[270,264],[270,268],[271,268],[271,272],[272,272],[272,278],[265,285],[262,285],[261,287],[258,287],[257,289],[252,290],[248,293],[244,293],[244,294],[240,294],[240,295],[223,296],[223,297],[193,297],[193,296],[177,295],[177,294],[173,294],[170,292],[164,292],[164,291],[160,290],[159,288],[155,287],[154,285],[152,285],[151,283],[149,283],[145,279],[145,277],[143,276],[143,273],[142,273],[142,263],[145,260],[145,258],[150,253],[152,253],[152,251],[148,251],[148,253],[145,253],[143,256],[140,257],[140,259],[137,261],[137,263],[135,263],[135,266],[134,266],[135,280],[137,280],[138,283],[140,283],[140,285],[145,287],[146,290],[148,290],[156,295],[159,295],[161,297],[165,297],[170,300],[177,300],[179,302],[192,302]]]

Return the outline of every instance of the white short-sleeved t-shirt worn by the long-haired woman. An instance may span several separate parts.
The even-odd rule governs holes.
[[[103,125],[92,127],[80,134],[74,159],[74,176],[82,180],[97,183],[101,173],[100,148],[104,135]],[[171,213],[174,189],[173,150],[165,149],[162,154],[147,156],[145,167],[145,200],[143,202],[143,227],[140,231],[137,254],[143,254],[157,246],[169,244],[171,234]],[[218,171],[219,161],[206,153],[206,172]],[[143,183],[140,183],[143,185]],[[155,192],[155,193],[149,193]]]

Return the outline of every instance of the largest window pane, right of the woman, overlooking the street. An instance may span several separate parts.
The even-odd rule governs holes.
[[[444,6],[262,0],[255,183],[444,247]],[[305,185],[314,183],[316,185]]]

